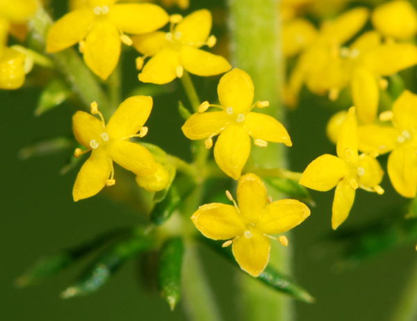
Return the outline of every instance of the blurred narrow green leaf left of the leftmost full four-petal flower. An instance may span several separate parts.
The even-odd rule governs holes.
[[[42,140],[35,144],[26,146],[19,151],[19,158],[26,160],[34,156],[49,156],[57,154],[65,149],[74,148],[74,140],[66,137],[57,137],[50,140]]]

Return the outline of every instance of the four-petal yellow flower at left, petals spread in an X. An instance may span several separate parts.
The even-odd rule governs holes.
[[[115,184],[113,179],[113,161],[138,176],[147,176],[155,181],[161,176],[161,168],[155,163],[152,154],[142,145],[129,142],[129,138],[143,137],[147,133],[144,127],[152,110],[152,97],[135,96],[126,99],[106,125],[104,118],[92,103],[91,113],[98,114],[101,121],[88,113],[78,111],[72,118],[72,127],[76,140],[87,147],[86,151],[76,149],[76,156],[92,150],[90,158],[84,163],[76,177],[72,195],[74,201],[96,195],[104,186]],[[139,133],[138,133],[139,131]],[[138,133],[138,134],[136,134]],[[164,174],[162,174],[164,175]],[[140,181],[138,181],[140,183]],[[140,186],[147,187],[147,179]],[[159,184],[148,184],[152,191],[165,188]]]

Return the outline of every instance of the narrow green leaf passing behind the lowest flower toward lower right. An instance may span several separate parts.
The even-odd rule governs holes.
[[[233,263],[236,268],[239,268],[238,264],[236,264],[236,260],[231,252],[231,249],[229,247],[222,247],[223,241],[218,242],[203,237],[199,238],[199,240],[202,240],[204,244],[208,245],[208,247],[213,249],[215,252],[221,254],[224,258],[227,258],[227,260]],[[240,268],[239,270],[244,272]],[[250,275],[247,274],[247,277],[250,277]],[[281,272],[275,270],[275,268],[273,268],[271,265],[268,265],[256,279],[265,283],[267,286],[270,286],[271,288],[281,293],[291,295],[291,297],[294,299],[298,299],[302,302],[313,303],[316,301],[316,299],[314,299],[314,297],[312,297],[304,288],[302,288],[302,286],[299,286],[290,277],[287,277],[286,275],[281,274]]]

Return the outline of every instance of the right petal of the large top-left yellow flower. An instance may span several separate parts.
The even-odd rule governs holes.
[[[125,33],[150,33],[165,26],[168,15],[152,3],[122,3],[111,8],[108,15],[117,28]]]

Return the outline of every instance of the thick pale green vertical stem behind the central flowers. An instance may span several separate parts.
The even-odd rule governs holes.
[[[281,54],[279,0],[229,0],[229,9],[233,65],[252,77],[255,100],[270,101],[270,108],[256,111],[268,113],[284,122],[284,106],[281,104],[284,60]],[[254,147],[252,158],[256,167],[285,167],[285,147],[278,144],[270,144],[267,148]],[[273,243],[270,264],[281,272],[291,274],[290,258],[291,248]],[[244,276],[240,281],[246,320],[293,319],[291,299],[250,277]]]

